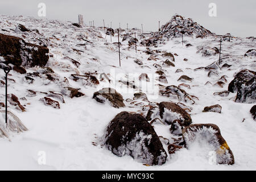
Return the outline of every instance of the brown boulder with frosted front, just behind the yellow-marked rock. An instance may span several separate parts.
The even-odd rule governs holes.
[[[190,115],[180,106],[172,102],[160,102],[159,114],[168,125],[176,119],[179,119],[183,126],[188,126],[192,123]]]

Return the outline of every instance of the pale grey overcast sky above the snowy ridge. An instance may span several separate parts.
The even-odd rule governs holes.
[[[0,14],[38,16],[38,4],[46,4],[46,18],[78,22],[77,15],[84,15],[84,22],[94,20],[94,26],[112,28],[141,28],[157,31],[158,21],[166,23],[175,13],[192,18],[216,34],[256,36],[255,0],[1,0]],[[217,16],[210,17],[209,3],[216,3]]]

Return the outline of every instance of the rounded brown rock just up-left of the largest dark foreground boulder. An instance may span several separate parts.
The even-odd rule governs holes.
[[[125,106],[123,104],[123,96],[113,88],[103,88],[98,92],[94,92],[93,98],[101,103],[105,103],[108,100],[113,107],[119,108]]]

